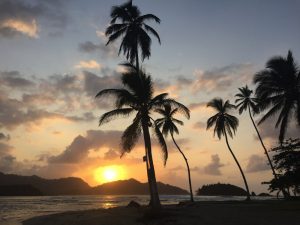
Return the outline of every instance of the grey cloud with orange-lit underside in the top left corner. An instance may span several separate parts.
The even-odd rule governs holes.
[[[67,15],[61,0],[26,2],[2,0],[0,2],[0,36],[12,38],[27,36],[37,38],[39,26],[44,24],[54,29],[64,28]]]

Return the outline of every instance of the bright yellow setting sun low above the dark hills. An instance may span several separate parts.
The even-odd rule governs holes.
[[[125,178],[124,168],[121,166],[99,167],[94,171],[94,179],[98,183],[105,183]]]

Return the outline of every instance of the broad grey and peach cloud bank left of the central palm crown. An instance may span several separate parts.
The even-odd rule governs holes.
[[[102,68],[100,74],[83,71],[77,75],[28,78],[19,71],[0,72],[0,127],[14,129],[39,124],[44,119],[94,121],[91,110],[111,106],[111,100],[95,100],[95,95],[101,89],[121,86],[116,71]]]

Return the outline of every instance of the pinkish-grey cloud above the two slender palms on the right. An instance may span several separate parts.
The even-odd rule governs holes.
[[[212,70],[195,70],[194,91],[225,91],[233,84],[247,83],[252,80],[254,68],[251,64],[232,64]]]

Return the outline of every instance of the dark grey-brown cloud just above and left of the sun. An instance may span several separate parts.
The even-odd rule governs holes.
[[[88,130],[86,136],[78,135],[60,155],[52,156],[48,161],[49,163],[79,163],[88,157],[91,150],[103,147],[119,149],[121,135],[121,131]]]

